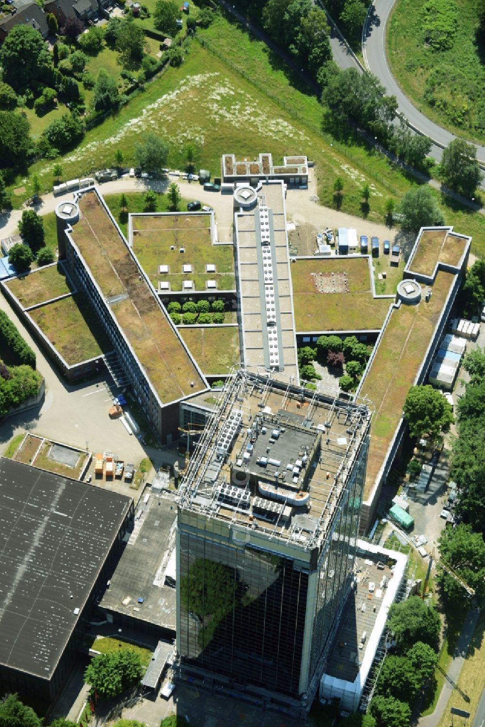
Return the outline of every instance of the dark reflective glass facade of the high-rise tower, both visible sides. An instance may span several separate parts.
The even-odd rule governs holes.
[[[227,522],[180,510],[177,650],[238,684],[293,699],[310,685],[345,604],[355,558],[367,441],[348,475],[321,549],[234,533]]]

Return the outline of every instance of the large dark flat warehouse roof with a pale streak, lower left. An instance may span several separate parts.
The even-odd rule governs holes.
[[[0,457],[0,664],[52,676],[131,502]]]

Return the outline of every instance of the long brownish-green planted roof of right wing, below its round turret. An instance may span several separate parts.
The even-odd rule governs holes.
[[[401,305],[390,314],[371,367],[359,392],[374,404],[365,497],[385,459],[406,395],[414,383],[454,276],[440,270],[428,303]]]

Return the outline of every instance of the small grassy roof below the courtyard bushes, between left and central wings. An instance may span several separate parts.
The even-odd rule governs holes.
[[[228,369],[241,361],[239,330],[236,326],[181,326],[179,333],[204,374],[226,375]]]

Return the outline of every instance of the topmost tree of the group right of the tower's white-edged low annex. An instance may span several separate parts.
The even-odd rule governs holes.
[[[390,606],[388,626],[396,634],[398,653],[405,654],[417,641],[436,647],[441,622],[433,606],[411,596]]]

